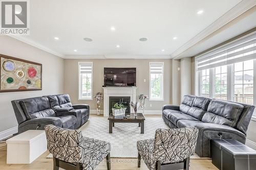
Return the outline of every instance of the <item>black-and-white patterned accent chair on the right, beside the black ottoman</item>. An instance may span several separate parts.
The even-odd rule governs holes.
[[[148,169],[186,169],[189,157],[195,154],[198,129],[157,129],[155,139],[139,140],[138,167],[141,157]]]

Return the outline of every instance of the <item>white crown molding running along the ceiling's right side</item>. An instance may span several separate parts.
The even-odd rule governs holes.
[[[230,9],[228,12],[226,12],[224,15],[222,15],[220,18],[218,18],[216,21],[212,22],[211,25],[206,27],[203,31],[198,33],[195,37],[191,38],[189,41],[187,41],[185,44],[183,44],[181,47],[179,47],[174,53],[170,55],[173,59],[180,59],[180,55],[186,51],[191,46],[195,45],[202,39],[206,38],[210,34],[214,33],[215,31],[219,30],[223,26],[225,26],[228,22],[232,21],[233,19],[237,18],[241,14],[245,13],[252,7],[256,5],[255,0],[243,0],[236,6],[234,6],[232,9]],[[189,57],[189,56],[188,56]]]

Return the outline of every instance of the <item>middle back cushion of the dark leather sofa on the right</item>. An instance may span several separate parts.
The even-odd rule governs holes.
[[[193,116],[199,120],[202,120],[203,115],[206,113],[208,105],[211,99],[204,97],[196,97],[193,102],[193,106],[190,107],[187,114]]]

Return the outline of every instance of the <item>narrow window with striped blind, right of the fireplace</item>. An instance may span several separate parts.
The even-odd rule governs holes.
[[[150,62],[150,100],[163,100],[163,62]]]

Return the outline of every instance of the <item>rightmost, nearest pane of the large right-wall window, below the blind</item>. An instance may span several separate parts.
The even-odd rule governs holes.
[[[233,100],[253,105],[253,60],[233,64]]]

